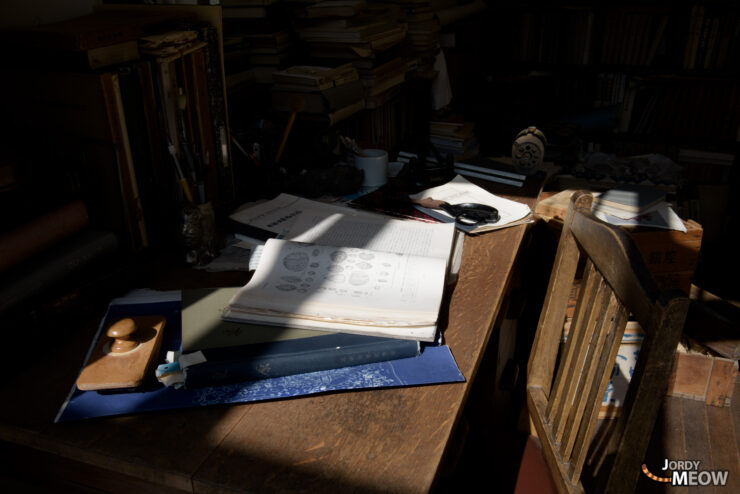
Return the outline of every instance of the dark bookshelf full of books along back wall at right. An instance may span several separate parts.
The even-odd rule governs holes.
[[[681,166],[671,198],[704,227],[702,265],[719,273],[737,264],[727,246],[740,227],[729,206],[740,186],[739,33],[740,6],[726,0],[534,1],[491,2],[442,36],[453,103],[476,122],[482,154],[508,155],[536,125],[566,173],[593,151],[667,156]]]

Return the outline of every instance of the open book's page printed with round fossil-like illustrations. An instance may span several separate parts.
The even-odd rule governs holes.
[[[323,329],[338,323],[396,328],[401,334],[403,328],[433,328],[445,265],[446,258],[270,239],[226,316],[286,316],[291,323],[322,322]],[[428,336],[433,339],[434,333]]]

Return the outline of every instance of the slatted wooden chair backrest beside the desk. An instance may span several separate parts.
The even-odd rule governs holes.
[[[688,299],[661,293],[629,234],[571,198],[527,367],[527,405],[559,492],[634,492]],[[564,345],[579,260],[583,278]],[[616,420],[599,410],[628,319],[645,338]],[[562,348],[561,348],[562,346]],[[608,424],[608,426],[607,426]]]

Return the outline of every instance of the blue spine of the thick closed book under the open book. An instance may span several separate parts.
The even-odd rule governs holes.
[[[207,353],[207,351],[204,351]],[[185,387],[199,388],[337,369],[419,356],[419,343],[387,339],[378,343],[281,354],[206,361],[185,370]]]

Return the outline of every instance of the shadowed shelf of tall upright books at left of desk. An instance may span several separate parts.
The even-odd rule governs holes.
[[[0,237],[33,252],[2,269],[1,324],[34,328],[18,339],[182,262],[188,195],[234,207],[220,29],[218,7],[112,5],[3,30]]]

